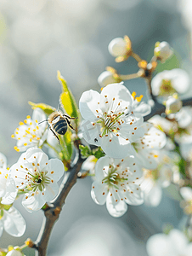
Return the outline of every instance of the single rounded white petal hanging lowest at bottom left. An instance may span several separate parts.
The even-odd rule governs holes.
[[[23,236],[26,228],[25,219],[14,207],[4,211],[4,230],[11,236]]]

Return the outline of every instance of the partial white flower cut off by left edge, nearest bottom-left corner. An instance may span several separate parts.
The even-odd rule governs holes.
[[[26,228],[25,219],[14,207],[10,207],[8,211],[4,207],[8,206],[0,203],[0,236],[3,230],[11,236],[23,236]]]

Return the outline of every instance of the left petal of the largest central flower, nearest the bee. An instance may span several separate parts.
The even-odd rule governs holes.
[[[95,90],[87,90],[83,92],[80,101],[79,109],[83,119],[94,121],[97,115],[96,109],[99,108],[100,95]]]

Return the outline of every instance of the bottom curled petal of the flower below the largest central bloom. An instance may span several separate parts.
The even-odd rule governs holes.
[[[125,214],[125,212],[127,212],[128,208],[124,201],[119,201],[118,203],[114,204],[110,194],[106,199],[106,207],[110,215],[113,217],[121,217],[123,214]]]

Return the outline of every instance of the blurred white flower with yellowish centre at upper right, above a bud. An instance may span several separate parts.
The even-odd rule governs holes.
[[[183,69],[164,70],[151,81],[154,96],[170,96],[177,92],[184,94],[189,89],[189,75]]]

